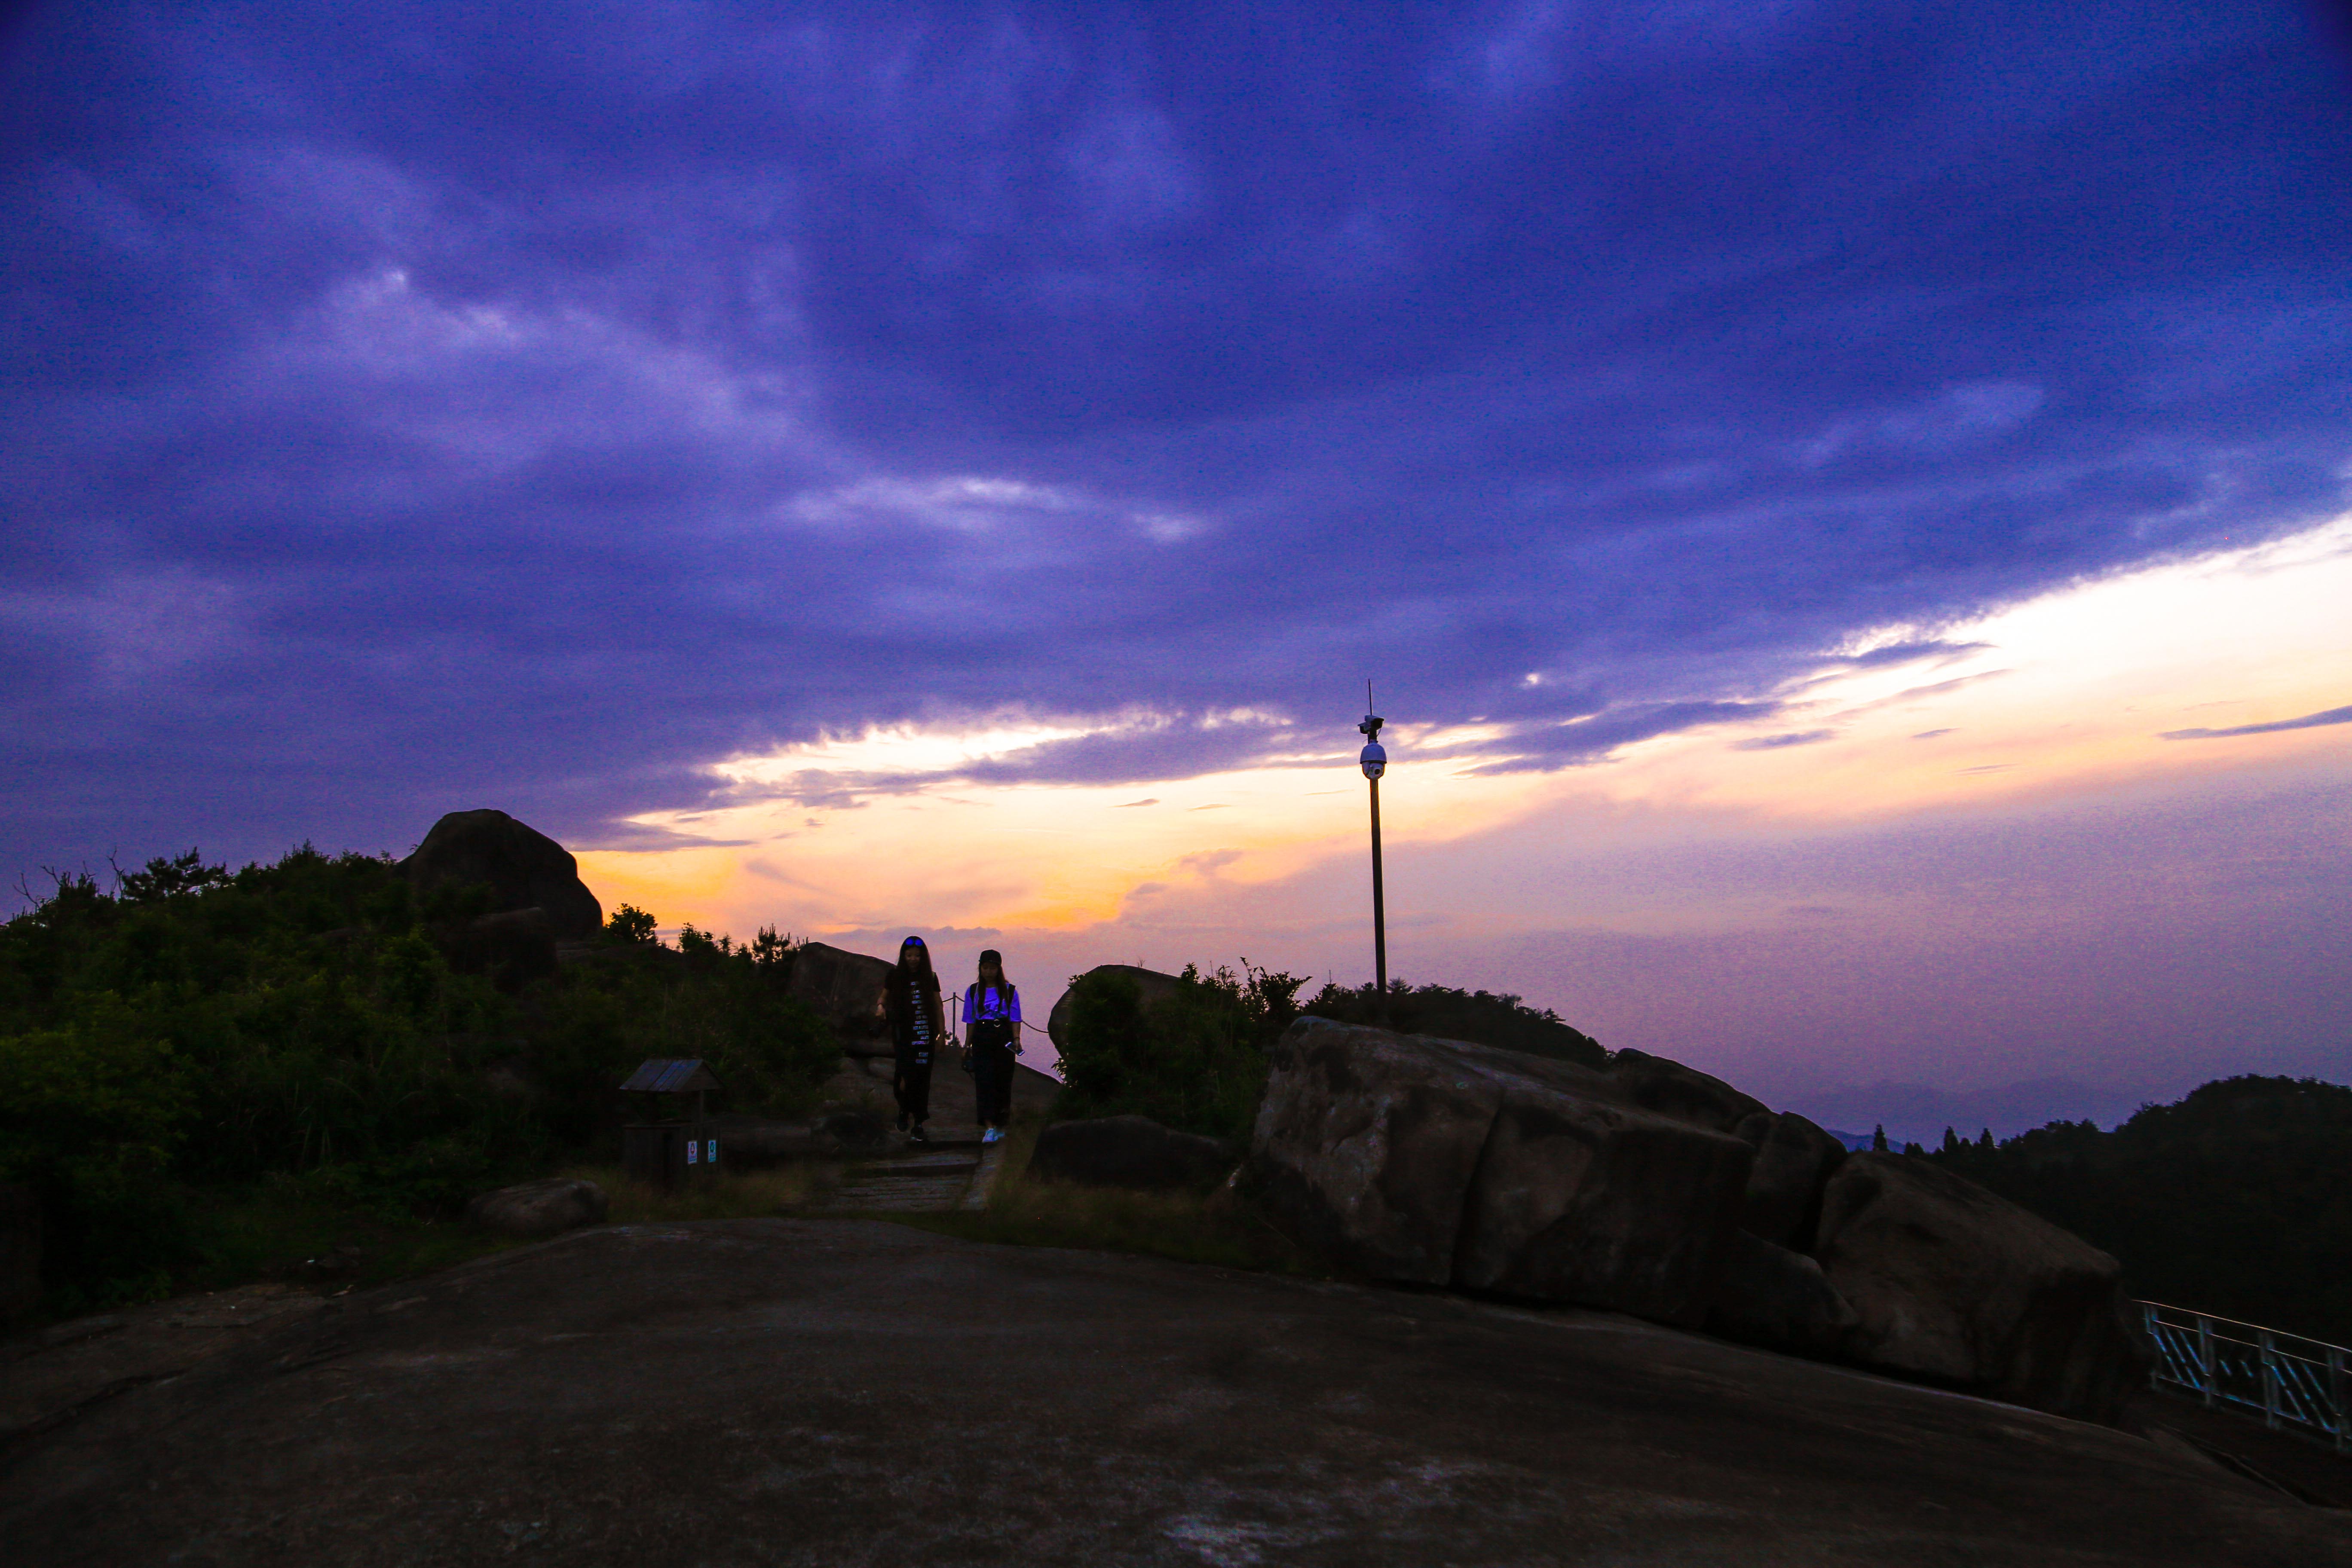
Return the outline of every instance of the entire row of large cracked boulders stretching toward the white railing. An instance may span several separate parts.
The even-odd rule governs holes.
[[[1301,1018],[1251,1161],[1376,1279],[1611,1307],[2091,1420],[2133,1373],[2098,1248],[1637,1051],[1595,1072]]]

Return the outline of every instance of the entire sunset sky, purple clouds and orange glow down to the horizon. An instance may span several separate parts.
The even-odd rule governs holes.
[[[663,926],[1359,983],[1369,679],[1406,980],[1846,1117],[2352,1079],[2347,45],[14,7],[0,870],[499,806]]]

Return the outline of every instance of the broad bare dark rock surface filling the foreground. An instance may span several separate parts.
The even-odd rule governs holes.
[[[1581,1309],[586,1229],[0,1453],[38,1563],[2345,1563],[2187,1450]],[[21,1375],[21,1368],[19,1368]]]

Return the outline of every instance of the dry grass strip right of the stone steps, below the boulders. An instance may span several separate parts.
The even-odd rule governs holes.
[[[1228,1269],[1312,1274],[1334,1269],[1284,1234],[1244,1192],[1127,1192],[1030,1180],[1042,1117],[1016,1119],[988,1208],[978,1213],[880,1215],[917,1229],[1002,1246],[1068,1246],[1141,1253]]]

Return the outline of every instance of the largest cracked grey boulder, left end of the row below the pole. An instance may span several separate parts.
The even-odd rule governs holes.
[[[1301,1018],[1251,1161],[1294,1225],[1378,1279],[1696,1326],[1752,1150],[1569,1063]]]

